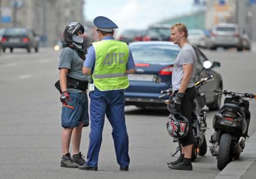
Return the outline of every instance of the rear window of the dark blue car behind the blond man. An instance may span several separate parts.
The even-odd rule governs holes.
[[[170,63],[178,55],[178,47],[162,44],[129,45],[135,63]]]

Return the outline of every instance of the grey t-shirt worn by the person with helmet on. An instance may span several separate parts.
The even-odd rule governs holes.
[[[59,69],[68,68],[69,72],[67,76],[81,81],[90,80],[90,75],[82,74],[83,64],[84,60],[78,56],[78,52],[75,49],[66,47],[62,50],[59,60]]]

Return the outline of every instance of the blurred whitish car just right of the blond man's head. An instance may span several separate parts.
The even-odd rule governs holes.
[[[197,47],[209,48],[210,47],[210,32],[204,29],[189,29],[187,31],[187,41]]]

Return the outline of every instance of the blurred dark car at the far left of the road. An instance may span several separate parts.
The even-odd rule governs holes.
[[[10,48],[13,52],[14,48],[26,48],[28,52],[31,48],[38,52],[40,38],[35,34],[34,30],[29,28],[7,28],[2,35],[2,51]]]

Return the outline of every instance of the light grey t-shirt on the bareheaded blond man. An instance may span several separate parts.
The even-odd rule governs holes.
[[[174,66],[172,69],[172,90],[180,89],[180,83],[183,78],[183,66],[184,64],[193,64],[193,72],[189,83],[187,84],[187,88],[195,86],[194,77],[195,72],[197,70],[197,55],[195,54],[195,50],[190,44],[184,44],[180,49],[178,56],[175,59]]]

